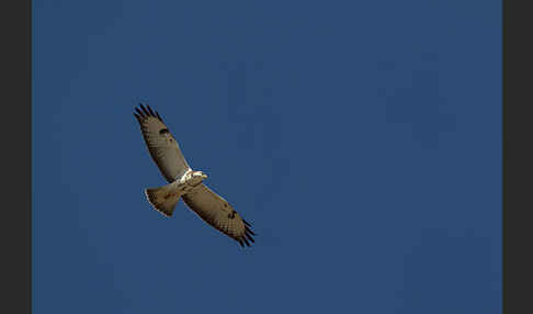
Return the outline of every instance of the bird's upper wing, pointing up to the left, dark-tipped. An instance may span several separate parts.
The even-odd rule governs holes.
[[[140,132],[145,138],[146,146],[150,156],[159,167],[165,179],[173,182],[181,178],[190,169],[183,154],[180,150],[178,142],[165,125],[161,116],[157,111],[152,111],[149,105],[140,109],[135,108],[135,117],[140,124]]]

